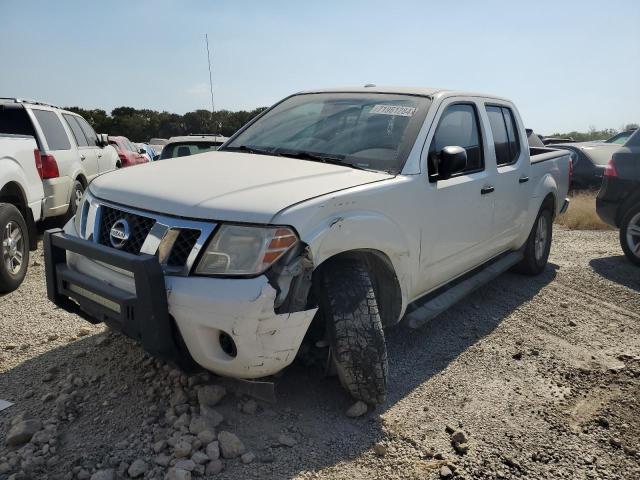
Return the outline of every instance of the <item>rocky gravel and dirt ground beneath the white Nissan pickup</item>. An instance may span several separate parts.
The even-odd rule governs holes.
[[[54,309],[34,261],[0,297],[0,398],[15,402],[0,479],[162,479],[176,462],[169,478],[640,478],[640,270],[616,232],[557,229],[541,276],[503,275],[422,330],[388,332],[390,395],[373,412],[347,418],[337,380],[298,361],[276,404],[227,392],[205,433],[198,405],[221,391],[197,384],[217,380]],[[40,431],[7,446],[21,413]]]

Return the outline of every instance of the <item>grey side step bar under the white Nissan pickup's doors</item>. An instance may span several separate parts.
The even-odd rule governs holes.
[[[415,308],[415,310],[408,313],[403,322],[410,328],[420,328],[426,322],[440,315],[475,289],[509,270],[520,262],[522,257],[523,253],[521,251],[512,252],[488,264],[472,276],[422,303],[419,307]],[[417,300],[416,303],[420,304],[421,301]]]

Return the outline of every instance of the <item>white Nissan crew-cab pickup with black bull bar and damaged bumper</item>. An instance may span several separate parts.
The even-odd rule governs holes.
[[[225,376],[328,345],[343,386],[375,404],[384,328],[419,327],[509,268],[541,272],[569,177],[569,154],[530,151],[502,98],[299,93],[217,152],[96,179],[46,233],[48,296]]]

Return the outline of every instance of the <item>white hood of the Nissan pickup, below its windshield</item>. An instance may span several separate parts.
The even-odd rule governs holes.
[[[207,152],[102,175],[98,198],[166,215],[268,223],[293,204],[345,188],[393,178],[286,157]]]

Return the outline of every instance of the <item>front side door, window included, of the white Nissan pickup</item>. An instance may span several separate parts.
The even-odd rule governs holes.
[[[421,231],[421,290],[437,288],[488,260],[493,219],[492,165],[486,164],[480,106],[473,99],[443,102],[427,137],[423,165],[425,211]],[[444,147],[463,147],[467,167],[447,179],[438,178]]]

